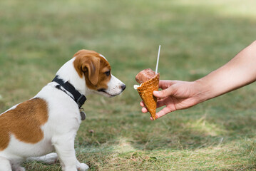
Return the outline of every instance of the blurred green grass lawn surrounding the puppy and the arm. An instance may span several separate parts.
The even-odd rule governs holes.
[[[76,137],[91,170],[256,170],[254,84],[150,121],[135,75],[194,81],[255,41],[256,1],[0,1],[0,111],[36,95],[81,48],[102,53],[126,83],[89,96]],[[93,130],[90,133],[89,130]],[[26,170],[61,170],[24,163]]]

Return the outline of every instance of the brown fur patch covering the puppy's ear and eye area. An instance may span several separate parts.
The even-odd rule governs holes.
[[[86,86],[93,90],[107,89],[108,82],[111,80],[111,74],[106,75],[107,71],[111,71],[111,66],[105,58],[95,51],[81,50],[78,51],[73,62],[78,75],[86,79]]]

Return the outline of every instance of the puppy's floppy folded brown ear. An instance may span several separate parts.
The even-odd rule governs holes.
[[[88,80],[96,85],[98,83],[98,75],[100,71],[101,59],[90,53],[76,53],[76,59],[73,62],[78,75],[82,78],[83,74],[88,76]]]

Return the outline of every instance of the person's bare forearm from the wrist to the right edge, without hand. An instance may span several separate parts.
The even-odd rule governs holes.
[[[256,41],[238,53],[231,61],[208,74],[195,84],[202,91],[200,101],[246,86],[256,80]]]

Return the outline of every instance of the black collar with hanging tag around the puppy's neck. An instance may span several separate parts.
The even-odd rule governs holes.
[[[70,96],[73,100],[75,100],[75,102],[78,105],[78,108],[80,109],[81,119],[85,120],[86,113],[83,112],[83,108],[81,107],[86,102],[86,96],[79,93],[78,90],[76,90],[76,88],[74,88],[71,83],[68,83],[68,81],[64,82],[63,79],[58,78],[58,76],[53,78],[53,81],[58,83],[58,85],[55,86],[56,88],[58,88],[58,90],[62,90],[67,95],[68,93],[71,93],[71,95],[73,95],[73,97],[71,95],[68,95],[68,96]],[[61,87],[63,87],[64,90]]]

